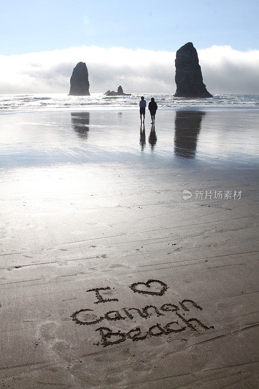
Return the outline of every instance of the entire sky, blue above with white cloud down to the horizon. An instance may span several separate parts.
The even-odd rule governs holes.
[[[258,0],[1,0],[0,93],[65,93],[79,61],[90,92],[174,92],[191,41],[211,93],[256,94],[258,20]]]

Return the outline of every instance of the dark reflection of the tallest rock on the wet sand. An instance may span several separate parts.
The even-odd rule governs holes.
[[[178,157],[194,158],[201,123],[206,112],[178,111],[174,121],[174,154]]]

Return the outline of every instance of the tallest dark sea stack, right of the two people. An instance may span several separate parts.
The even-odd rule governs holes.
[[[176,52],[175,84],[175,97],[213,97],[203,83],[198,54],[191,42]]]

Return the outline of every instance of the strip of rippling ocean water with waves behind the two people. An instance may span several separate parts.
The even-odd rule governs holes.
[[[135,110],[141,94],[131,96],[105,96],[93,93],[91,96],[68,96],[58,94],[2,94],[0,114],[34,111],[84,111],[84,110]],[[215,94],[210,99],[174,97],[173,93],[144,94],[146,101],[155,98],[158,109],[207,110],[218,108],[259,108],[259,95]]]

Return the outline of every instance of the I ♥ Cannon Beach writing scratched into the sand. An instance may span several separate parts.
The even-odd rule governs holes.
[[[163,283],[159,280],[148,280],[146,283],[138,282],[133,283],[130,286],[130,289],[134,293],[140,293],[144,295],[152,296],[163,296],[168,289],[166,283]],[[110,290],[109,286],[88,289],[86,292],[95,292],[96,299],[95,304],[107,303],[109,301],[119,301],[117,298],[106,299],[102,296],[102,291]],[[159,304],[160,305],[160,304]],[[126,339],[132,341],[144,340],[152,336],[161,336],[169,335],[172,333],[178,333],[190,329],[191,331],[197,331],[198,328],[208,330],[214,328],[213,326],[207,326],[198,318],[186,318],[185,314],[190,311],[190,307],[197,309],[197,312],[202,310],[202,307],[198,305],[195,301],[184,299],[178,301],[178,305],[167,302],[162,304],[160,307],[155,305],[145,305],[144,307],[137,308],[118,308],[118,310],[112,310],[105,312],[102,316],[97,316],[94,313],[93,309],[84,308],[79,311],[74,312],[71,315],[72,320],[77,324],[87,325],[87,326],[96,326],[100,325],[103,320],[110,322],[117,320],[132,320],[136,318],[148,319],[151,316],[162,317],[174,315],[174,320],[169,321],[166,325],[161,325],[156,323],[149,327],[148,330],[143,331],[139,326],[130,329],[127,332],[122,332],[121,330],[113,330],[109,327],[98,327],[95,331],[99,332],[101,336],[101,344],[106,347],[113,344],[124,342]],[[97,345],[99,344],[96,343]]]

